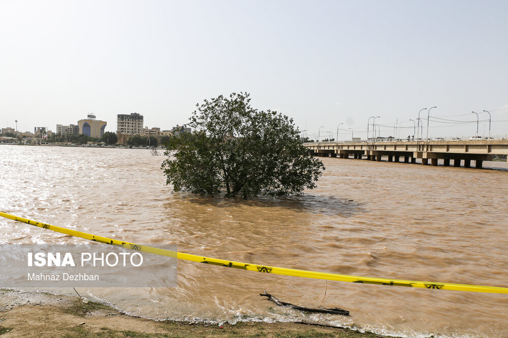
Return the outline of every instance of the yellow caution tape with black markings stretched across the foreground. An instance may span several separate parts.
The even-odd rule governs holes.
[[[314,279],[326,279],[326,280],[352,282],[352,283],[419,287],[419,288],[424,288],[424,289],[436,289],[436,290],[457,290],[457,291],[471,291],[471,292],[508,293],[508,288],[506,288],[506,287],[468,285],[468,284],[452,284],[452,283],[435,283],[435,282],[422,282],[422,281],[388,279],[388,278],[374,278],[374,277],[358,277],[358,276],[349,276],[349,275],[330,274],[330,273],[324,273],[324,272],[269,267],[269,266],[257,265],[257,264],[247,264],[247,263],[242,263],[242,262],[237,262],[237,261],[203,257],[203,256],[198,256],[198,255],[193,255],[193,254],[188,254],[188,253],[158,249],[158,248],[154,248],[151,246],[134,244],[134,243],[119,241],[119,240],[111,239],[111,238],[107,238],[107,237],[86,234],[86,233],[82,233],[80,231],[51,226],[50,224],[41,223],[41,222],[37,222],[34,220],[22,218],[22,217],[17,217],[17,216],[14,216],[14,215],[2,212],[2,211],[0,211],[0,216],[9,218],[12,220],[16,220],[18,222],[30,224],[30,226],[36,226],[39,228],[52,230],[52,231],[62,233],[62,234],[66,234],[66,235],[70,235],[70,236],[74,236],[74,237],[79,237],[79,238],[84,238],[84,239],[87,239],[90,241],[96,241],[96,242],[100,242],[100,243],[104,243],[104,244],[121,246],[126,249],[154,253],[154,254],[161,255],[161,256],[168,256],[168,257],[173,257],[173,258],[178,258],[178,259],[195,261],[195,262],[199,262],[199,263],[218,265],[218,266],[227,267],[227,268],[236,268],[236,269],[264,272],[264,273],[276,274],[276,275],[306,277],[306,278],[314,278]]]

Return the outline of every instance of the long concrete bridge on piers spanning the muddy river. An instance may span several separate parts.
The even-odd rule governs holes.
[[[388,162],[416,163],[437,166],[442,159],[444,166],[482,168],[483,161],[491,161],[493,155],[508,155],[508,140],[471,140],[471,141],[388,141],[388,142],[309,142],[303,144],[312,155],[321,157],[339,157],[381,161],[382,156]]]

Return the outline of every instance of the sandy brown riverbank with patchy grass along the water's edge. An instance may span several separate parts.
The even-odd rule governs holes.
[[[85,301],[86,302],[86,301]],[[206,324],[129,316],[79,297],[0,290],[0,335],[7,337],[349,337],[380,335],[304,323]]]

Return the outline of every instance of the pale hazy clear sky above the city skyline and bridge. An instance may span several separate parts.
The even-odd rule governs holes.
[[[116,131],[117,114],[138,112],[171,129],[244,91],[309,136],[343,123],[340,139],[365,138],[380,116],[383,136],[398,121],[407,137],[431,106],[446,123],[429,135],[474,135],[471,111],[488,133],[484,109],[504,134],[507,13],[505,0],[0,0],[0,127],[55,131],[89,112]]]

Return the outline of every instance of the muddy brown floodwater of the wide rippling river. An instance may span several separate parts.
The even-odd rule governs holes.
[[[161,152],[160,152],[161,153]],[[323,159],[317,189],[288,198],[172,194],[146,149],[0,146],[0,210],[140,244],[356,276],[508,286],[508,166]],[[498,170],[488,170],[498,168]],[[84,243],[0,219],[0,244]],[[74,290],[45,289],[74,294]],[[508,295],[328,282],[302,314],[258,294],[322,304],[325,281],[178,262],[177,288],[79,288],[155,319],[309,321],[399,336],[508,336]]]

